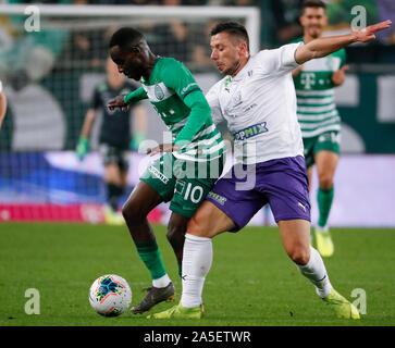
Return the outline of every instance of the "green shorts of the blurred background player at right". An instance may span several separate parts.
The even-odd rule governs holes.
[[[306,167],[314,164],[317,152],[332,151],[341,153],[341,133],[338,130],[330,130],[321,133],[311,138],[304,138]]]

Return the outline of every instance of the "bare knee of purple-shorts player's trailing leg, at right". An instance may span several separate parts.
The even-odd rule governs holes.
[[[307,220],[279,221],[284,249],[296,263],[306,264],[310,258],[310,222]]]

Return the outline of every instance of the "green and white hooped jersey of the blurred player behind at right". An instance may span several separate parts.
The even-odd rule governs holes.
[[[303,38],[294,42],[300,42]],[[341,130],[341,117],[334,99],[332,74],[346,61],[341,49],[323,58],[312,59],[304,64],[303,71],[294,76],[297,116],[304,138],[324,132]]]

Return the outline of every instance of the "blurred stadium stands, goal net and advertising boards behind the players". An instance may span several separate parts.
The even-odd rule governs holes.
[[[9,1],[10,4],[17,4]],[[33,3],[33,2],[32,2]],[[32,4],[29,3],[29,4]],[[36,3],[36,2],[35,2]],[[255,7],[260,10],[260,48],[274,48],[300,36],[301,1],[163,0],[42,1],[74,5]],[[354,5],[367,9],[367,24],[395,20],[392,0],[328,1],[325,35],[347,33]],[[107,41],[118,25],[133,23],[147,36],[152,51],[183,61],[207,90],[219,79],[209,60],[208,29],[213,18],[41,17],[41,29],[28,33],[26,15],[1,14],[0,79],[9,107],[0,130],[0,221],[103,221],[106,199],[97,150],[100,121],[91,136],[92,152],[78,162],[74,149],[95,85],[104,78]],[[244,21],[242,17],[240,21]],[[369,45],[346,49],[346,83],[336,89],[343,119],[342,158],[335,176],[331,213],[334,226],[395,226],[395,32]],[[147,139],[162,140],[164,127],[147,103]],[[223,128],[223,127],[222,127]],[[147,158],[131,157],[131,189]],[[317,183],[313,183],[312,198]],[[313,220],[317,219],[317,204]],[[150,219],[165,223],[165,204]],[[251,224],[273,224],[261,211]]]

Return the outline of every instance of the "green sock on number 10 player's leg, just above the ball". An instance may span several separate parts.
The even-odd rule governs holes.
[[[135,241],[137,253],[151,274],[152,279],[159,279],[166,274],[157,240]]]

